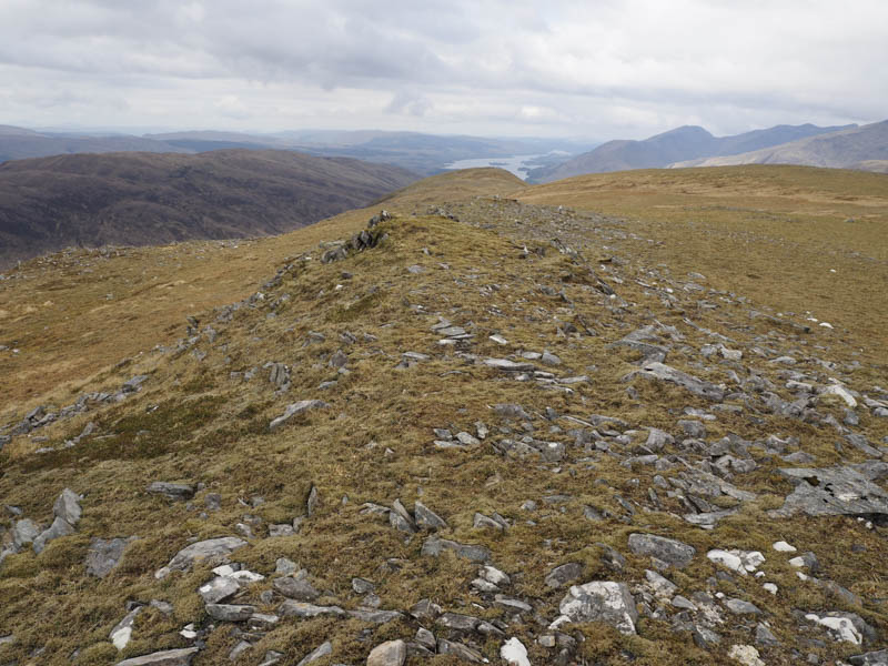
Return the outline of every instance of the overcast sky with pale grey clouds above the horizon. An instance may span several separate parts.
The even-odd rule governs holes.
[[[886,118],[886,0],[0,0],[0,124],[612,139]]]

